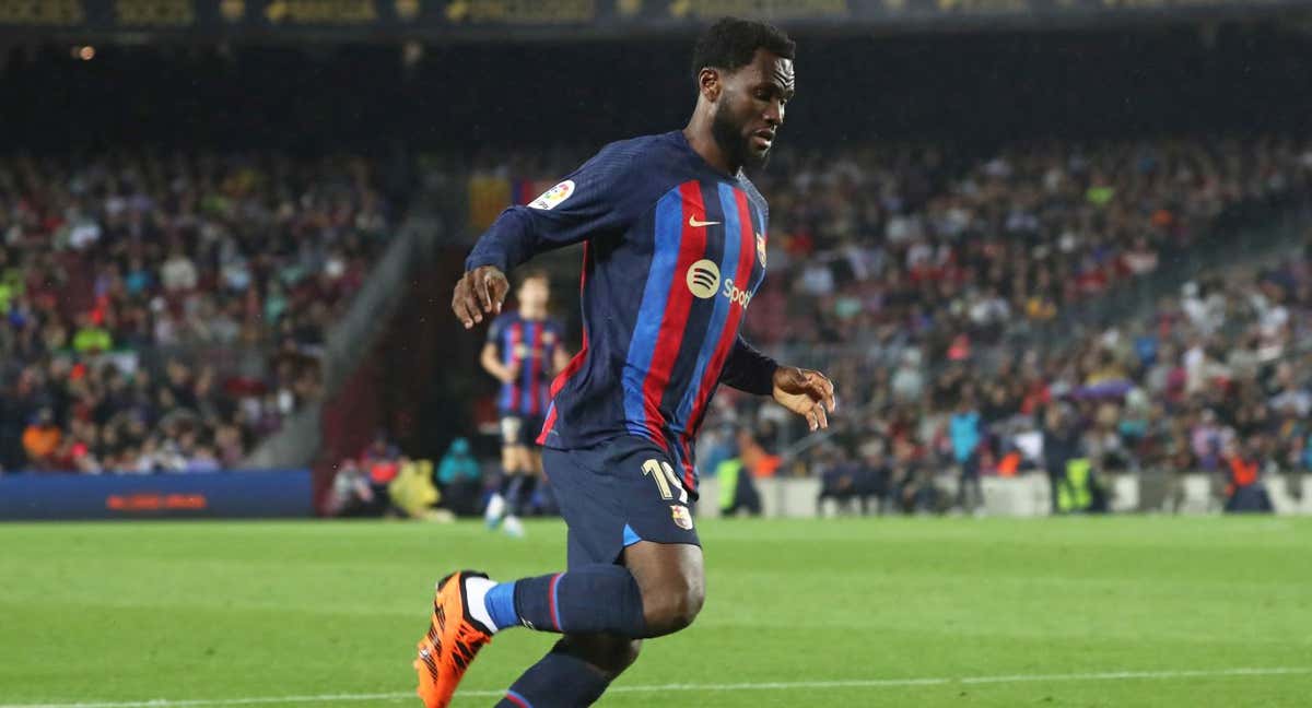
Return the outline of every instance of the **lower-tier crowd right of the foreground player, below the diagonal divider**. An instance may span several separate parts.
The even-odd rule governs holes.
[[[972,503],[938,498],[945,469],[966,481],[1026,468],[1061,479],[1086,459],[1098,472],[1202,471],[1235,484],[1308,471],[1312,241],[1303,258],[1190,282],[1151,316],[1071,346],[939,367],[840,358],[834,371],[871,383],[807,462],[834,496],[888,507]]]

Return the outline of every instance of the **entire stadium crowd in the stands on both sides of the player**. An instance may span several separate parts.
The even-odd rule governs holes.
[[[475,174],[538,180],[572,159],[483,156]],[[1210,469],[1236,452],[1305,464],[1305,261],[1200,279],[1149,320],[1071,346],[998,357],[997,345],[1151,275],[1225,219],[1305,197],[1308,144],[1047,143],[988,157],[901,146],[775,160],[757,180],[771,205],[770,277],[748,336],[825,353],[845,409],[861,412],[803,460],[810,471],[865,469],[863,488],[916,506],[930,503],[916,480],[945,465],[1005,471],[1012,452],[1023,455],[1061,448],[1035,437],[1092,448],[1103,469]],[[349,157],[0,160],[0,464],[236,464],[315,397],[325,328],[396,220],[379,191],[377,167]],[[748,425],[773,451],[795,425],[743,397],[716,403],[706,448],[716,429]]]

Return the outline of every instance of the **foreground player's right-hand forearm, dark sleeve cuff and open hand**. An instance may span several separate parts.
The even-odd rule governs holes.
[[[828,414],[836,405],[833,382],[811,368],[781,366],[747,344],[741,334],[724,359],[720,383],[757,396],[771,396],[783,408],[804,417],[811,430],[829,427]]]

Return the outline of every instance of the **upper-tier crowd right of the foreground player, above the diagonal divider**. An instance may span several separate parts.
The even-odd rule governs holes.
[[[1051,321],[1312,186],[1312,143],[1277,138],[779,157],[758,180],[773,248],[752,337],[911,338],[932,358]]]

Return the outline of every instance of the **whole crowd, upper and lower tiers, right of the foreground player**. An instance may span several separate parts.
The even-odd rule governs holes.
[[[789,184],[762,180],[782,244],[750,336],[828,351],[824,367],[859,412],[799,462],[828,493],[928,509],[977,503],[979,473],[1033,465],[1057,479],[1071,459],[1227,480],[1312,467],[1312,250],[1197,278],[1151,317],[1067,346],[1008,349],[1227,218],[1239,227],[1244,212],[1305,199],[1312,146],[1050,146],[946,180],[941,164],[933,151],[884,164],[808,156],[771,170]],[[769,446],[789,421],[753,425]],[[942,500],[933,477],[954,468],[966,484]]]

